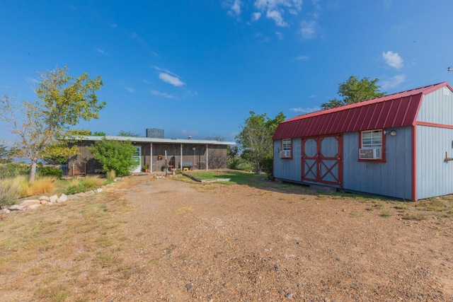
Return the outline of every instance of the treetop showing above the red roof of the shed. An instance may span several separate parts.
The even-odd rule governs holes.
[[[348,81],[338,84],[338,95],[343,97],[343,100],[334,98],[329,100],[328,103],[322,103],[321,109],[331,109],[343,105],[359,103],[363,100],[370,100],[372,98],[379,98],[385,95],[381,91],[381,86],[377,86],[379,79],[370,80],[367,77],[359,80],[357,76],[350,76]]]

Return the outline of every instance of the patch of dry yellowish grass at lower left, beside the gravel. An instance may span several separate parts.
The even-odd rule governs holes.
[[[117,187],[121,185],[126,184]],[[90,284],[102,284],[106,269],[115,270],[122,262],[119,252],[129,238],[120,231],[127,223],[121,217],[129,209],[122,194],[103,192],[1,216],[0,296],[17,291],[28,293],[20,301],[89,301]],[[88,269],[81,269],[82,263]]]

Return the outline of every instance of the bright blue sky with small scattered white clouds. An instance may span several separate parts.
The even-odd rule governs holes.
[[[319,110],[351,75],[387,93],[452,84],[452,11],[451,0],[6,0],[0,94],[35,100],[37,71],[69,66],[104,83],[100,119],[79,127],[234,141],[249,111]]]

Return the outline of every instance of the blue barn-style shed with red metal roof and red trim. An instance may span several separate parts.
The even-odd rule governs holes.
[[[277,180],[418,200],[453,194],[447,82],[299,115],[273,135]]]

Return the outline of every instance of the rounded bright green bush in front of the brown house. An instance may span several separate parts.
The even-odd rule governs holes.
[[[117,176],[130,175],[134,168],[132,156],[135,154],[135,147],[131,141],[110,141],[103,138],[95,141],[88,151],[101,163],[103,170],[114,170]]]

